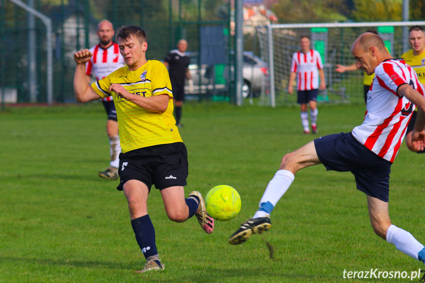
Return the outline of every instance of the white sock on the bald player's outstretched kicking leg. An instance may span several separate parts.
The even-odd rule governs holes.
[[[260,200],[259,207],[262,206],[262,203],[270,202],[270,204],[274,208],[280,198],[289,189],[292,182],[294,181],[294,178],[295,176],[291,171],[278,170],[274,175],[273,179],[268,182],[267,188],[265,189]],[[259,218],[268,215],[270,215],[270,213],[264,211],[257,211],[253,218]]]

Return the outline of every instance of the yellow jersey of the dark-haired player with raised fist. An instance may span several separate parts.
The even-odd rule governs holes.
[[[111,84],[120,84],[131,94],[150,97],[168,95],[168,107],[164,113],[151,112],[137,104],[109,93]],[[131,150],[175,142],[182,142],[173,117],[173,94],[165,65],[149,60],[134,71],[121,67],[92,84],[100,97],[112,95],[117,110],[120,143],[123,153]]]

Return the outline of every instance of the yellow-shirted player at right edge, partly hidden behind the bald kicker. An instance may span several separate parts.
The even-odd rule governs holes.
[[[409,44],[412,48],[407,51],[401,58],[404,58],[404,62],[411,65],[418,75],[419,81],[425,84],[425,31],[421,26],[412,26],[409,29]],[[406,131],[406,145],[411,151],[417,153],[424,153],[425,151],[418,151],[412,146],[412,131],[415,126],[416,117],[418,112],[415,111],[412,114],[409,126]]]

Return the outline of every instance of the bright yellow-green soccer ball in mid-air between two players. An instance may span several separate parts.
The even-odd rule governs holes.
[[[216,186],[207,193],[205,206],[208,214],[219,221],[234,218],[240,211],[239,193],[230,186]]]

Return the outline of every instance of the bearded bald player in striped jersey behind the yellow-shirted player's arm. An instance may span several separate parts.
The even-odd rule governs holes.
[[[100,42],[98,45],[90,48],[93,56],[86,64],[86,78],[89,84],[93,75],[96,81],[98,81],[125,65],[118,44],[112,41],[115,34],[112,23],[108,20],[100,21],[97,34]],[[105,179],[115,180],[118,178],[119,155],[121,153],[117,111],[115,110],[112,96],[102,98],[102,103],[108,115],[106,132],[109,137],[111,161],[105,171],[99,172],[99,176]]]

